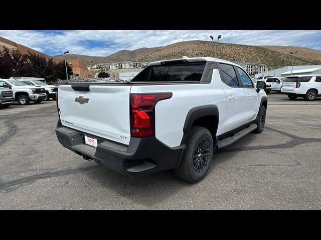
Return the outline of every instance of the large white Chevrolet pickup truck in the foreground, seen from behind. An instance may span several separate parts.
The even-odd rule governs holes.
[[[151,62],[129,82],[60,85],[59,142],[129,176],[174,168],[204,177],[216,148],[261,132],[267,96],[239,65],[212,57]]]

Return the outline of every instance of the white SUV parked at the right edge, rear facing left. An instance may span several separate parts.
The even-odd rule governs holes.
[[[291,99],[301,96],[307,101],[313,101],[317,96],[321,96],[321,74],[287,76],[281,92]]]

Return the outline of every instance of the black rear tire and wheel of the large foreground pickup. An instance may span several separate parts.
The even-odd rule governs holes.
[[[193,126],[186,143],[180,166],[176,175],[184,181],[195,183],[207,173],[213,157],[213,138],[211,132],[200,126]]]

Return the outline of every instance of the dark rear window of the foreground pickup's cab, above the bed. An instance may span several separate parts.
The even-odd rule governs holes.
[[[200,81],[206,61],[147,66],[130,81]]]

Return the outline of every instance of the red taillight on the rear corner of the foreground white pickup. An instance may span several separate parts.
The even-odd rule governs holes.
[[[172,92],[130,94],[130,133],[143,137],[155,134],[155,105],[171,98]]]

